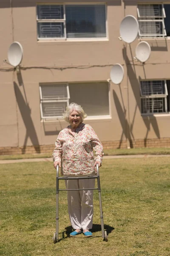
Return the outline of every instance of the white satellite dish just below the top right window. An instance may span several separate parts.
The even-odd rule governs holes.
[[[136,46],[136,59],[145,62],[150,57],[150,52],[150,45],[147,42],[142,41]]]

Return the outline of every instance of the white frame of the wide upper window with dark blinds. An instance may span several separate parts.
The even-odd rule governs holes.
[[[64,19],[38,19],[38,7],[37,6],[43,6],[43,5],[62,5],[63,6],[63,11],[64,11]],[[101,38],[67,38],[66,36],[66,14],[65,14],[65,6],[66,5],[105,5],[105,28],[106,28],[106,37],[101,37]],[[108,18],[107,18],[107,4],[105,2],[101,2],[101,3],[37,3],[36,6],[36,20],[37,20],[37,40],[38,41],[108,41]],[[46,22],[46,23],[50,23],[50,22],[55,22],[55,23],[59,23],[59,22],[63,22],[64,23],[64,37],[62,38],[41,38],[38,35],[38,23],[40,22]]]

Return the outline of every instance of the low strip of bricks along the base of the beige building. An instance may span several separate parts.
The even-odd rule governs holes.
[[[104,149],[127,148],[127,141],[103,141]],[[170,147],[170,138],[131,140],[131,148],[164,148]],[[24,147],[0,147],[0,155],[5,154],[35,154],[35,153],[51,153],[54,150],[52,145],[37,145]]]

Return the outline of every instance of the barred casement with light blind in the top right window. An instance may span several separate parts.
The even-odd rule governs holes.
[[[139,4],[137,14],[140,37],[165,37],[167,35],[163,4]]]

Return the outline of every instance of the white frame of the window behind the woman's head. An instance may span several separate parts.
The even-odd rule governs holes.
[[[96,82],[105,82],[108,84],[108,108],[109,108],[109,114],[108,115],[97,115],[97,116],[87,116],[86,120],[99,120],[99,119],[111,119],[111,85],[108,81],[79,81],[77,83],[96,83]],[[39,84],[39,90],[40,90],[40,114],[41,114],[41,121],[45,122],[45,121],[55,121],[57,120],[63,120],[62,116],[43,116],[43,111],[42,111],[42,103],[43,102],[67,102],[67,106],[69,105],[69,100],[70,100],[70,93],[69,93],[69,84],[71,84],[73,82],[63,82],[63,83],[40,83]],[[42,86],[44,85],[49,85],[49,84],[67,84],[67,90],[68,90],[68,99],[42,99]]]

